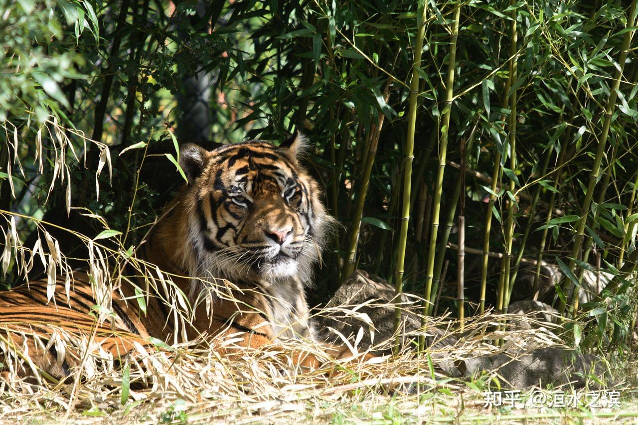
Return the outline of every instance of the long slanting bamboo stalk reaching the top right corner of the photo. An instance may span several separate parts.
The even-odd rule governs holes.
[[[634,26],[635,21],[635,10],[636,3],[638,0],[632,0],[632,5],[627,15],[627,28]],[[609,91],[609,98],[607,99],[607,106],[605,107],[605,121],[602,128],[602,133],[600,134],[600,138],[598,139],[598,149],[596,151],[596,156],[594,158],[593,166],[591,167],[590,173],[590,181],[587,185],[587,193],[585,194],[585,198],[582,202],[581,206],[581,218],[577,223],[577,231],[574,239],[574,246],[572,247],[572,255],[569,261],[569,270],[570,272],[574,272],[576,262],[575,258],[577,258],[578,253],[581,251],[582,241],[584,239],[585,234],[585,226],[587,223],[588,213],[590,211],[591,200],[593,198],[594,188],[598,181],[598,177],[600,177],[600,163],[602,162],[602,158],[605,154],[605,147],[607,147],[607,136],[609,135],[609,128],[611,127],[611,118],[613,116],[614,107],[616,106],[616,98],[617,92],[620,88],[620,81],[623,77],[623,71],[625,70],[625,62],[627,61],[627,54],[629,52],[629,48],[631,47],[632,36],[634,35],[633,30],[629,30],[623,36],[623,43],[620,48],[620,55],[618,57],[618,68],[616,69],[616,73],[614,75],[614,84]],[[565,292],[573,292],[573,290],[566,291],[567,286],[570,288],[575,287],[575,283],[571,282],[570,285],[567,285],[567,280],[563,283],[563,293]],[[567,307],[567,299],[565,302],[561,301],[559,311],[561,315],[565,313],[565,308]]]

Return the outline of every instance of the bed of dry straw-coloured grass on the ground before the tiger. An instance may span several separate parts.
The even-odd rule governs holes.
[[[519,326],[508,332],[490,331],[505,318],[471,318],[460,338],[452,331],[457,328],[454,322],[438,318],[431,320],[424,332],[432,334],[438,329],[434,348],[425,356],[417,357],[406,349],[396,356],[367,362],[326,359],[325,367],[313,371],[294,366],[290,354],[320,354],[320,348],[311,341],[289,341],[283,350],[281,345],[244,350],[232,358],[203,348],[201,340],[167,349],[149,349],[136,343],[135,352],[124,359],[124,368],[117,368],[117,362],[93,342],[83,362],[82,382],[74,380],[70,384],[52,383],[44,377],[36,381],[20,378],[20,371],[30,371],[27,375],[32,377],[36,371],[29,367],[28,353],[20,357],[15,349],[0,342],[11,359],[11,364],[6,364],[8,379],[0,383],[0,412],[4,421],[306,423],[338,417],[372,420],[375,415],[383,416],[382,412],[387,414],[390,403],[404,419],[446,416],[468,408],[465,399],[480,401],[477,385],[481,384],[473,388],[463,381],[467,378],[445,377],[438,369],[442,362],[560,345],[560,339],[550,331],[556,329],[551,324],[542,324],[545,327],[540,329]],[[532,321],[516,317],[519,324]],[[61,344],[89,344],[87,338],[61,328],[56,329],[56,335]],[[507,341],[503,347],[491,343],[499,338]],[[378,346],[390,343],[392,339],[380,341]],[[130,388],[122,385],[126,379],[122,371],[127,369]],[[486,377],[475,378],[481,380]],[[122,391],[128,391],[124,403]],[[478,408],[477,403],[469,404]]]

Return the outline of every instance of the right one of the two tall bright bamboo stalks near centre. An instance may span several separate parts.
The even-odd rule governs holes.
[[[439,214],[441,209],[441,192],[443,191],[443,172],[445,172],[445,161],[447,156],[447,136],[450,130],[450,112],[452,101],[454,100],[454,68],[456,66],[456,41],[459,36],[459,18],[461,15],[461,4],[454,4],[454,24],[452,24],[452,36],[450,40],[449,64],[447,68],[447,82],[445,89],[447,96],[445,100],[445,114],[443,114],[443,126],[441,126],[441,138],[439,142],[439,168],[436,171],[436,186],[434,190],[432,225],[430,231],[429,250],[427,253],[427,274],[426,274],[426,294],[424,304],[424,317],[432,311],[432,304],[429,302],[432,296],[432,281],[434,277],[434,254],[436,253],[436,234],[439,227]],[[420,338],[419,346],[421,350],[425,346],[425,338]]]

